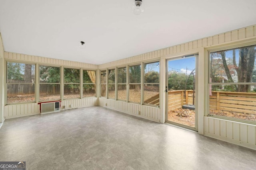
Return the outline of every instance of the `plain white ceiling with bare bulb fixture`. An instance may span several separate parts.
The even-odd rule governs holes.
[[[256,24],[256,0],[133,2],[0,0],[4,50],[102,64]]]

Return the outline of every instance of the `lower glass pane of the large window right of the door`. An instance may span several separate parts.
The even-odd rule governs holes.
[[[256,93],[233,92],[232,86],[223,85],[210,88],[212,91],[209,96],[209,115],[256,121]]]

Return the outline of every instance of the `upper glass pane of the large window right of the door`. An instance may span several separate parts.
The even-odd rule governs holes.
[[[209,57],[210,82],[256,82],[256,45],[212,52]]]

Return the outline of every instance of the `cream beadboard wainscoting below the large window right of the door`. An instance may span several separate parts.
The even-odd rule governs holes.
[[[256,150],[256,125],[204,117],[204,135]]]

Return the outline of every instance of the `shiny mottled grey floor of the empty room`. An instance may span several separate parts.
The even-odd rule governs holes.
[[[245,170],[256,150],[100,106],[4,121],[0,161],[26,170]]]

